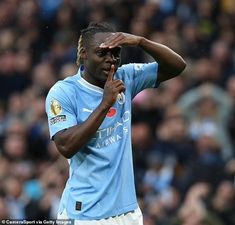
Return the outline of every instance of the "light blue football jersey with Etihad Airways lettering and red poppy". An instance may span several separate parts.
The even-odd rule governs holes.
[[[127,64],[121,79],[124,94],[107,113],[90,141],[69,159],[70,171],[59,213],[69,218],[95,220],[135,210],[137,205],[131,147],[131,100],[145,88],[155,87],[157,63]],[[58,81],[46,98],[51,138],[60,130],[81,124],[97,108],[103,89],[88,83],[80,71]]]

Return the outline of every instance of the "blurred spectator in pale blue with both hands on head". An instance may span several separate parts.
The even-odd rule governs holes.
[[[186,92],[179,105],[189,120],[189,132],[193,139],[203,134],[219,141],[224,159],[232,156],[232,147],[226,130],[231,99],[226,92],[212,84],[203,84]]]

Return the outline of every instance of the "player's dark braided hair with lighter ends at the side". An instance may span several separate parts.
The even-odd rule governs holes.
[[[91,39],[96,33],[106,33],[106,32],[112,33],[116,32],[116,30],[112,25],[106,22],[101,22],[101,23],[92,22],[87,26],[87,28],[81,30],[81,35],[78,40],[78,51],[77,51],[78,66],[80,66],[80,64],[82,63],[80,58],[81,55],[80,53],[82,48],[90,43]]]

